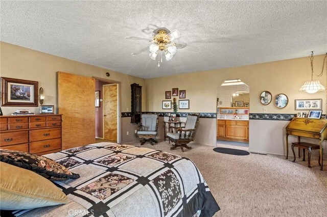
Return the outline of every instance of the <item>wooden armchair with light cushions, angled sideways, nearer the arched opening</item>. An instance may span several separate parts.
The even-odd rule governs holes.
[[[169,138],[169,140],[174,143],[172,144],[170,150],[176,149],[177,146],[181,147],[182,152],[184,151],[183,147],[187,149],[192,149],[192,147],[188,146],[188,144],[193,141],[196,124],[198,121],[199,115],[188,115],[184,127],[171,127],[175,128],[175,133],[167,133],[167,137]]]

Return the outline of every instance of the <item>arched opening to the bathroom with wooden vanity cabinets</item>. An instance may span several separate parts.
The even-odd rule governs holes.
[[[240,79],[217,89],[217,145],[249,148],[250,88]]]

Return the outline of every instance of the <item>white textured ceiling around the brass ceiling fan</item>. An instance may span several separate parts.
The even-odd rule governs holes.
[[[327,50],[326,1],[1,1],[1,41],[143,78],[306,57]],[[188,44],[160,67],[154,29]],[[199,47],[200,52],[192,52]]]

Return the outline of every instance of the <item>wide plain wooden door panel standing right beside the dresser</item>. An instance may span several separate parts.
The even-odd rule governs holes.
[[[63,150],[96,142],[95,84],[91,77],[58,72]]]

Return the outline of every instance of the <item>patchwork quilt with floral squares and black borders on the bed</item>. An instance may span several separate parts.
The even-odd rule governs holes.
[[[179,155],[97,143],[44,156],[80,174],[55,182],[71,202],[14,215],[212,216],[220,209],[194,163]]]

